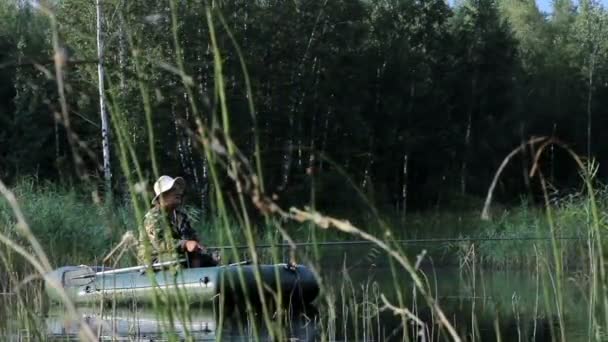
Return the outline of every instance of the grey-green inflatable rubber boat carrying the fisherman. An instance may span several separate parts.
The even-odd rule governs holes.
[[[75,304],[193,304],[216,298],[238,304],[245,300],[260,302],[263,296],[266,302],[280,299],[286,304],[307,305],[319,294],[310,269],[288,264],[114,270],[81,265],[58,268],[46,278],[45,291],[52,302],[61,302],[60,291],[64,291]]]

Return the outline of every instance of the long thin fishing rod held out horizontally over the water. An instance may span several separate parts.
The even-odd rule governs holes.
[[[559,236],[555,240],[582,240],[578,236]],[[551,237],[542,236],[524,236],[524,237],[468,237],[468,238],[427,238],[427,239],[405,239],[393,240],[394,244],[420,244],[420,243],[457,243],[457,242],[477,242],[477,241],[543,241],[551,240]],[[310,247],[310,246],[352,246],[352,245],[373,245],[374,242],[368,240],[352,240],[352,241],[324,241],[324,242],[297,242],[293,244],[277,243],[277,244],[259,244],[254,245],[254,248],[272,248],[272,247]],[[249,245],[238,246],[215,246],[208,247],[209,249],[246,249]]]

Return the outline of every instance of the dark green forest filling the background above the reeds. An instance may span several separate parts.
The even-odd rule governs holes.
[[[608,158],[608,12],[594,1],[542,13],[531,0],[104,0],[98,13],[95,1],[9,0],[0,17],[8,184],[105,179],[125,195],[117,122],[148,182],[184,176],[201,208],[212,189],[197,120],[229,120],[240,153],[253,164],[259,152],[268,193],[302,204],[313,191],[328,210],[352,205],[351,186],[403,214],[477,205],[532,137]],[[526,151],[499,179],[499,201],[537,192]],[[555,191],[578,191],[564,152],[541,162]]]

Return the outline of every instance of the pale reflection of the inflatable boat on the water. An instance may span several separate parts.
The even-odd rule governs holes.
[[[174,314],[175,315],[175,314]],[[187,317],[169,319],[166,315],[157,314],[152,308],[116,308],[100,312],[99,308],[81,307],[77,317],[70,317],[62,307],[53,307],[46,318],[47,337],[49,339],[78,339],[81,323],[99,333],[101,340],[158,341],[169,336],[178,340],[191,338],[196,341],[214,340],[251,340],[254,334],[257,339],[270,340],[270,334],[261,321],[256,322],[257,330],[251,320],[234,313],[225,317],[219,331],[218,317],[211,309],[191,309]],[[291,341],[315,340],[314,322],[305,319],[305,315],[293,313],[290,324],[284,334]],[[257,331],[257,333],[254,333]],[[221,334],[220,334],[221,333]]]

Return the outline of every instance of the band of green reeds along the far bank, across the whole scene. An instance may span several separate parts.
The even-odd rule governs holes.
[[[137,232],[138,223],[128,203],[116,200],[114,206],[108,208],[96,204],[90,192],[85,189],[67,187],[49,182],[26,178],[18,181],[12,190],[19,197],[22,209],[28,219],[32,231],[40,238],[48,251],[53,265],[91,264],[101,261],[103,256],[118,243],[126,231]],[[608,210],[608,191],[605,188],[597,190],[597,202],[600,211]],[[581,227],[587,225],[589,204],[583,195],[568,195],[553,201],[553,216],[556,234],[562,237],[580,238],[568,239],[563,242],[563,258],[566,267],[580,266],[585,254],[581,248],[585,243],[585,231]],[[186,207],[192,218],[195,230],[208,246],[220,246],[221,222],[217,217],[202,217],[201,211],[194,207]],[[547,221],[542,208],[534,208],[528,203],[522,203],[504,212],[492,222],[476,218],[476,212],[456,213],[444,212],[427,216],[412,214],[411,223],[408,219],[406,229],[393,228],[395,239],[442,238],[457,237],[481,238],[480,241],[450,243],[429,242],[418,243],[414,253],[422,248],[434,258],[437,264],[457,264],[461,250],[476,243],[480,263],[486,266],[501,267],[534,267],[534,253],[530,249],[550,248],[549,240],[519,240],[518,238],[545,237],[548,238]],[[465,225],[450,225],[450,222],[466,222]],[[604,218],[602,218],[604,219]],[[8,203],[0,201],[0,222],[7,234],[12,234],[11,227],[15,223],[14,216]],[[390,222],[390,220],[389,220]],[[391,226],[398,227],[396,225]],[[246,244],[245,232],[235,219],[229,219],[229,229],[237,245]],[[378,223],[370,222],[367,231],[381,233]],[[272,225],[266,226],[261,222],[255,229],[263,232],[258,235],[256,244],[269,244],[276,240],[273,236]],[[286,229],[291,232],[298,242],[310,241],[310,227],[301,224],[288,224]],[[399,231],[403,232],[399,234]],[[82,238],[86,236],[86,243]],[[513,238],[513,240],[484,241],[483,238]],[[319,242],[335,240],[352,240],[353,237],[336,231],[319,231],[316,234]],[[74,243],[80,241],[81,243]],[[260,252],[260,250],[258,251]],[[322,251],[321,251],[322,253]],[[132,261],[132,260],[129,260]]]

